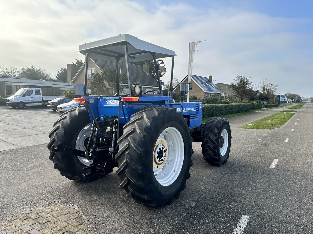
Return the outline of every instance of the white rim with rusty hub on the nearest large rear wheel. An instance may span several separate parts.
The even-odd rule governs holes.
[[[184,155],[182,134],[174,127],[164,129],[156,140],[152,155],[153,173],[159,184],[169,186],[176,181]]]

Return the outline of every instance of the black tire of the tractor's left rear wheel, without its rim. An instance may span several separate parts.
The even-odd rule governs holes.
[[[59,170],[62,176],[78,182],[90,182],[100,178],[100,176],[96,174],[82,178],[82,174],[88,172],[82,168],[87,165],[83,164],[77,155],[66,151],[54,152],[51,148],[52,145],[56,147],[58,143],[71,148],[77,148],[76,141],[78,140],[79,134],[88,124],[90,124],[88,111],[84,106],[78,106],[60,115],[60,118],[54,122],[54,128],[49,134],[49,159],[54,163],[54,169]]]

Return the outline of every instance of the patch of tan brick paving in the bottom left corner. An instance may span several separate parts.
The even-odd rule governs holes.
[[[0,220],[0,234],[87,234],[78,207],[54,204]]]

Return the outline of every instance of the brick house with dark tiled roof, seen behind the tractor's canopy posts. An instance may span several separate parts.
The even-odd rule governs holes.
[[[93,79],[92,74],[93,73],[101,73],[103,69],[109,66],[112,69],[115,70],[115,61],[113,60],[106,60],[106,59],[99,59],[99,58],[89,58],[88,61],[88,76],[87,76],[87,92],[92,94],[92,90],[90,88],[90,81]],[[149,67],[149,66],[146,66]],[[146,68],[145,67],[145,68]],[[118,68],[120,74],[127,74],[126,71],[126,63],[125,62],[118,62]],[[67,65],[67,80],[71,84],[84,84],[85,79],[85,62],[80,67],[80,69],[76,72],[76,67],[74,64],[68,64]],[[131,69],[131,81],[132,86],[135,85],[135,83],[140,82],[142,85],[143,93],[147,91],[154,90],[155,93],[159,92],[159,85],[157,81],[149,74],[149,71],[145,71],[143,69],[143,66],[130,64]],[[127,87],[127,89],[123,89],[124,94],[128,94],[128,84],[123,84],[124,87]],[[103,94],[103,95],[112,95],[112,93]]]

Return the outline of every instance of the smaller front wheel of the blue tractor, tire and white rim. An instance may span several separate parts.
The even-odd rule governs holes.
[[[214,166],[226,163],[231,146],[231,130],[226,119],[209,119],[203,129],[203,159]]]

